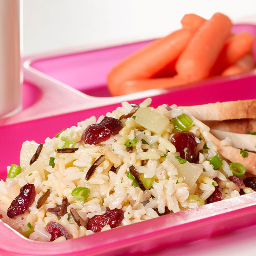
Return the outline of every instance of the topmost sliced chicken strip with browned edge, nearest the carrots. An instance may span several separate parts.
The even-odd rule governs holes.
[[[201,121],[256,118],[256,99],[216,102],[181,108],[187,109]]]

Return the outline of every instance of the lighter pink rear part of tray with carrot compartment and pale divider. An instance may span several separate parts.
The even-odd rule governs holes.
[[[245,24],[233,27],[233,32],[241,31],[250,32],[256,37],[255,25]],[[106,86],[108,71],[121,59],[145,46],[148,42],[87,52],[75,49],[73,52],[62,51],[47,56],[44,54],[27,58],[24,63],[25,83],[23,86],[26,106],[24,105],[23,111],[19,114],[0,119],[0,126],[179,90],[177,87],[169,90],[149,90],[109,97]],[[254,52],[256,52],[256,43]],[[254,74],[255,71],[252,71],[249,74],[236,77],[215,78],[196,84],[196,86],[233,81]],[[194,86],[194,84],[190,84],[186,88]],[[184,86],[180,88],[184,89]],[[193,101],[190,102],[193,104]]]

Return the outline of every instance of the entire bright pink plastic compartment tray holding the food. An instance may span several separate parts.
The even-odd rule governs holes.
[[[256,35],[255,26],[237,25],[235,28],[238,29],[236,32],[252,30],[250,32]],[[36,65],[36,68],[44,70],[35,71],[35,66],[33,69],[27,67],[25,80],[30,83],[26,82],[23,87],[24,110],[0,122],[0,134],[4,135],[1,137],[0,178],[6,177],[7,165],[19,163],[23,141],[44,142],[46,137],[53,137],[63,128],[76,125],[78,121],[92,115],[98,117],[120,106],[119,102],[124,100],[122,97],[90,97],[70,89],[65,84],[71,83],[69,85],[87,93],[93,86],[98,88],[98,92],[101,91],[104,86],[106,87],[104,72],[111,68],[110,65],[144,44],[146,43],[81,52],[30,63],[31,66]],[[98,59],[92,63],[93,68],[90,72],[87,72],[85,70],[91,67],[94,59],[92,56],[95,57],[93,54],[96,54]],[[88,56],[91,56],[91,59]],[[62,65],[58,68],[57,64]],[[79,66],[80,71],[77,72]],[[87,72],[87,75],[84,76],[83,72]],[[90,83],[86,84],[88,79]],[[152,96],[152,106],[155,107],[163,103],[194,105],[252,99],[256,95],[255,84],[255,72],[251,72],[170,90],[127,95],[126,99],[132,103],[139,103],[143,98]],[[80,85],[81,88],[76,87]],[[108,105],[89,109],[101,105],[102,102]],[[0,255],[141,255],[255,224],[254,193],[61,243],[30,241],[0,221],[0,232],[4,234],[0,240]]]

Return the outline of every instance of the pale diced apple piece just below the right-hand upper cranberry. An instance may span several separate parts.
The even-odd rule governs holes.
[[[188,161],[180,164],[174,155],[168,155],[166,158],[177,168],[178,175],[176,176],[182,178],[183,182],[191,189],[203,172],[203,167],[199,167],[198,164],[190,164]]]

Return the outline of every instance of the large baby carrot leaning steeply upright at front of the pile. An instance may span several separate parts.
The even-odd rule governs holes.
[[[231,27],[229,18],[221,13],[215,13],[210,20],[206,20],[178,58],[178,75],[190,82],[207,78]]]

